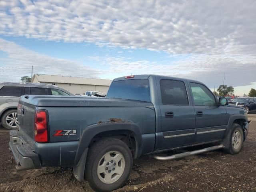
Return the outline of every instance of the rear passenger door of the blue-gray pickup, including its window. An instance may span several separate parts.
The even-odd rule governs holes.
[[[158,101],[161,112],[161,149],[193,144],[195,138],[195,112],[191,99],[188,97],[187,82],[171,78],[158,79],[156,82],[159,82]]]

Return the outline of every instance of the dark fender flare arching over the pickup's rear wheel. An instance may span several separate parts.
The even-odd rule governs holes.
[[[137,124],[134,124],[133,122],[109,122],[109,123],[101,123],[101,124],[94,124],[91,126],[88,126],[84,129],[84,131],[81,134],[78,149],[76,152],[76,158],[74,161],[74,165],[77,165],[80,161],[80,158],[86,148],[89,147],[89,144],[96,136],[97,134],[100,134],[102,132],[106,131],[113,131],[113,130],[120,130],[120,131],[131,131],[134,134],[134,138],[136,141],[136,153],[134,157],[140,156],[142,153],[142,136],[140,132],[140,128]]]

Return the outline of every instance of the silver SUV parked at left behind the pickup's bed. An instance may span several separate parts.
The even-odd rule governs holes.
[[[21,95],[72,95],[70,92],[48,84],[0,83],[0,122],[6,129],[16,129],[17,106]]]

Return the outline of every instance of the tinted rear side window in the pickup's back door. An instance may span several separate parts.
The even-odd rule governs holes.
[[[185,84],[176,80],[160,80],[162,104],[188,105]]]

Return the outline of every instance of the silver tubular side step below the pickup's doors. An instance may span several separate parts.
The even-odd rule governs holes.
[[[182,157],[186,157],[186,156],[190,156],[190,155],[197,155],[197,154],[208,152],[208,151],[214,151],[214,150],[221,149],[221,148],[224,148],[224,145],[222,145],[222,144],[216,145],[216,146],[207,147],[207,148],[200,149],[200,150],[179,153],[179,154],[175,154],[175,155],[171,155],[171,156],[164,157],[164,156],[153,155],[152,157],[156,160],[168,161],[168,160],[174,160],[174,159],[178,159],[178,158],[182,158]]]

